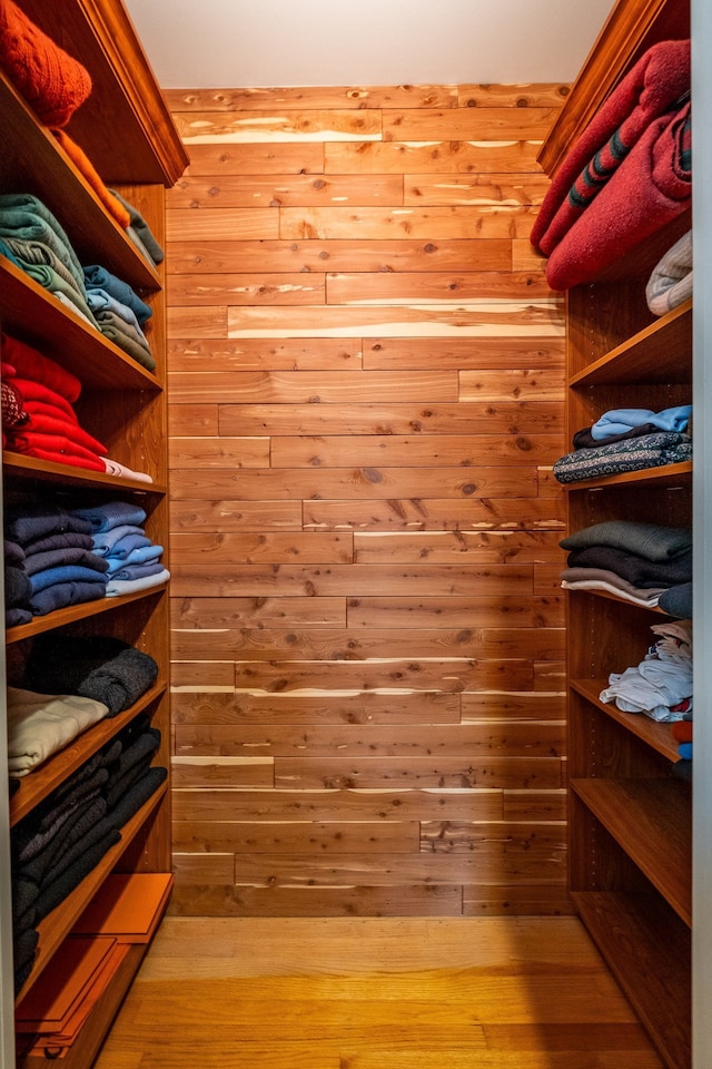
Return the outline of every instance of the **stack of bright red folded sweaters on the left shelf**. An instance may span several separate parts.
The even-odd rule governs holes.
[[[79,425],[76,375],[31,345],[2,336],[2,391],[17,402],[2,425],[3,445],[39,460],[106,472],[107,448]],[[3,416],[6,408],[3,406]]]

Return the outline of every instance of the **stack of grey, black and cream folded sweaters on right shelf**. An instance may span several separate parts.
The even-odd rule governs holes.
[[[601,590],[634,605],[692,618],[692,532],[611,520],[560,542],[568,550],[562,587]]]

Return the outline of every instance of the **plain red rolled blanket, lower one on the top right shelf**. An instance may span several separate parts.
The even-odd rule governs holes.
[[[553,290],[591,282],[691,203],[690,105],[654,119],[546,263]]]

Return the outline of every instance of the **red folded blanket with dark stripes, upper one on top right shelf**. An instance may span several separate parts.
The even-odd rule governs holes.
[[[567,154],[544,197],[531,242],[548,256],[651,121],[690,89],[690,41],[660,41],[613,90]]]

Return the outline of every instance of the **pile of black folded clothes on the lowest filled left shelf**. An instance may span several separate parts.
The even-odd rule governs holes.
[[[89,758],[11,835],[16,989],[32,969],[37,925],[121,841],[121,828],[166,779],[151,766],[160,732],[146,714]]]

